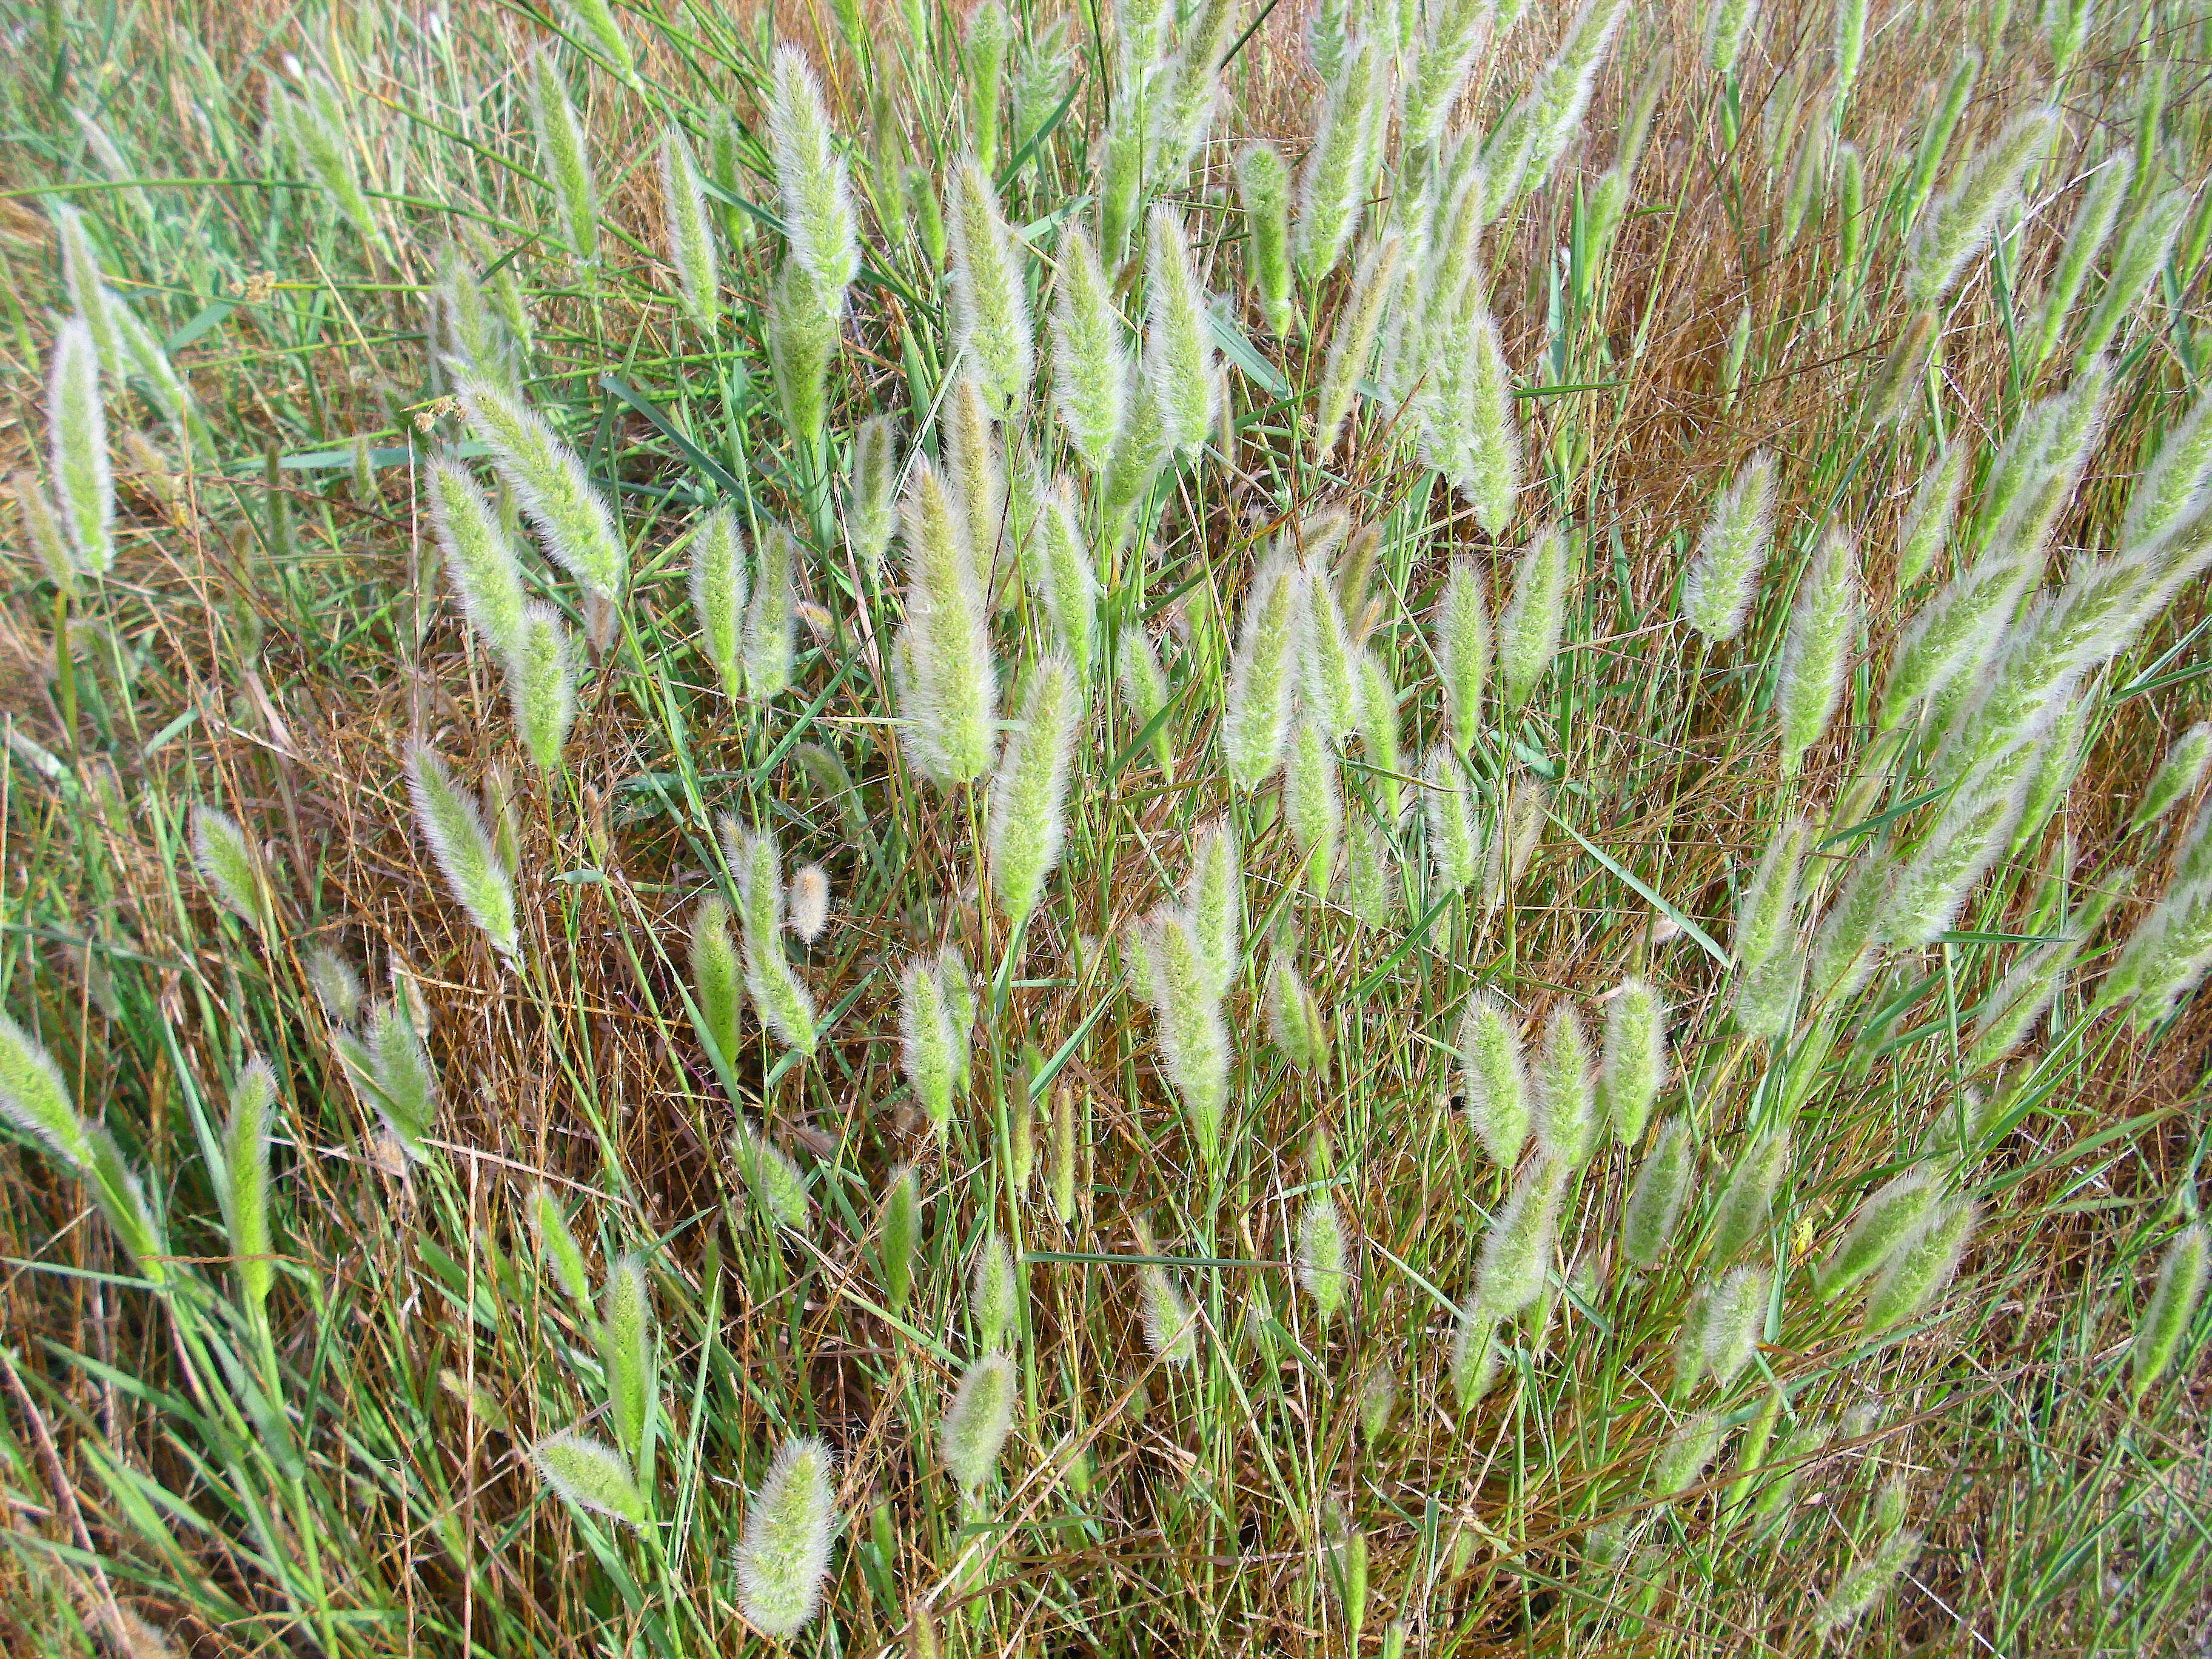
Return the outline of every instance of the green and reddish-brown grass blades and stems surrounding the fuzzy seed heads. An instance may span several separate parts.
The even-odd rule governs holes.
[[[1491,451],[1482,487],[1453,491],[1418,442],[1451,411],[1422,398],[1473,354],[1400,349],[1420,343],[1409,294],[1447,288],[1449,259],[1413,219],[1440,164],[1391,142],[1354,168],[1360,228],[1323,281],[1292,285],[1287,336],[1248,265],[1237,146],[1261,135],[1301,159],[1345,13],[1323,9],[1310,33],[1287,7],[1170,13],[1148,53],[1135,13],[1015,11],[1002,97],[978,104],[989,22],[967,35],[922,0],[781,18],[9,9],[0,447],[31,480],[18,498],[55,489],[46,372],[58,323],[84,310],[64,290],[58,204],[84,212],[106,285],[192,394],[190,418],[166,420],[159,385],[111,358],[111,568],[46,568],[29,531],[9,542],[7,1013],[115,1135],[161,1243],[133,1254],[97,1181],[9,1135],[11,1644],[768,1650],[732,1548],[759,1544],[754,1493],[801,1436],[836,1458],[841,1537],[821,1613],[790,1639],[823,1655],[2201,1641],[2208,1316],[2183,1310],[2168,1371],[2141,1391],[2130,1354],[2159,1261],[2199,1214],[2205,1020],[2185,995],[2130,1006],[2115,973],[2154,900],[2185,885],[2201,823],[2201,779],[2130,823],[2203,712],[2201,584],[2093,630],[2073,672],[2039,681],[2033,721],[2006,726],[1997,695],[1973,692],[2026,672],[2051,615],[2037,593],[2079,599],[2099,571],[2154,562],[2124,524],[2203,396],[2205,20],[2139,0],[2095,15],[1876,0],[1847,77],[1849,9],[1778,0],[1717,73],[1701,9],[1635,7],[1557,164],[1482,234],[1478,292],[1524,462],[1500,484]],[[1385,11],[1367,22],[1391,27]],[[1155,157],[1128,195],[1110,135],[1137,106],[1133,62],[1190,38],[1219,42],[1219,113],[1194,168]],[[1511,133],[1513,95],[1566,38],[1573,22],[1542,9],[1500,29],[1451,131]],[[591,197],[571,179],[566,204],[529,106],[524,53],[546,40],[591,170]],[[787,338],[770,343],[790,201],[765,126],[779,40],[821,73],[858,201],[860,274],[818,429]],[[272,135],[279,84],[305,142]],[[1927,237],[1973,157],[2042,104],[2059,113],[2048,155],[1931,296],[1916,228]],[[708,321],[668,252],[670,126],[706,179]],[[927,699],[894,684],[916,608],[907,542],[878,568],[849,535],[863,422],[891,414],[902,445],[927,431],[940,447],[969,396],[931,201],[980,131],[1029,248],[1040,361],[1002,440],[1068,476],[1099,580],[1064,847],[1020,920],[995,896],[989,781],[925,776]],[[2046,330],[2068,226],[2099,164],[2130,166],[2124,146],[2141,166],[2112,241]],[[1491,157],[1506,177],[1504,150]],[[1146,261],[1155,201],[1181,215],[1217,296],[1219,321],[1188,338],[1223,352],[1223,407],[1117,511],[1051,416],[1046,319],[1082,223],[1119,307],[1108,338],[1135,354],[1157,301],[1172,363],[1172,285]],[[2159,212],[2177,230],[2150,246],[2139,228]],[[595,263],[564,250],[582,223]],[[1327,345],[1391,230],[1420,252],[1400,261],[1413,288],[1389,299],[1323,456]],[[2139,281],[2130,237],[2148,248]],[[456,265],[500,321],[471,321]],[[1004,332],[984,334],[975,361],[1002,349]],[[431,458],[493,480],[449,358],[513,374],[624,542],[628,577],[604,597],[577,560],[524,538],[522,593],[551,606],[582,668],[551,768],[518,739],[507,653],[462,615],[431,529]],[[2101,425],[2077,473],[2064,445],[2006,449],[2099,361]],[[1962,507],[1933,564],[1900,580],[1944,445],[1964,451]],[[1741,630],[1708,639],[1683,577],[1754,451],[1776,469],[1772,549]],[[2002,511],[2008,453],[2031,456],[2026,518]],[[2190,553],[2208,535],[2201,480],[2181,498],[2170,549]],[[960,511],[973,500],[956,489]],[[495,507],[515,522],[513,500]],[[748,549],[776,526],[796,538],[787,686],[754,657],[726,679],[701,650],[688,571],[719,507]],[[1323,546],[1329,509],[1376,538]],[[987,524],[1011,723],[1020,672],[1066,624],[1020,513]],[[1566,577],[1548,659],[1546,606],[1509,595],[1553,524]],[[1785,765],[1776,710],[1805,661],[1785,641],[1838,531],[1858,568],[1840,695]],[[1301,790],[1321,772],[1230,783],[1239,628],[1279,542],[1316,546],[1316,591],[1343,593],[1400,688],[1396,765],[1356,737],[1323,768],[1347,834],[1391,849],[1365,918],[1349,872],[1332,883],[1294,845],[1318,823]],[[2157,557],[2183,557],[2170,549]],[[2000,630],[1969,641],[1958,690],[1885,721],[1913,619],[2006,553],[2026,560],[2022,584]],[[1464,887],[1440,880],[1444,838],[1422,810],[1451,726],[1433,617],[1453,560],[1486,593],[1500,661],[1535,668],[1517,703],[1493,668],[1464,759],[1429,774],[1469,792],[1484,872]],[[1159,650],[1157,714],[1115,690],[1124,628]],[[511,885],[511,960],[418,827],[411,743],[484,801],[473,887]],[[1754,964],[1736,958],[1774,830],[1809,823],[1805,894],[1778,922],[1790,962],[1812,953],[1854,858],[1924,869],[1975,787],[2006,810],[1949,925],[1882,949],[1863,987],[1785,995],[1754,1035],[1736,1004]],[[204,874],[195,807],[228,814],[246,854]],[[816,940],[752,920],[759,878],[726,818],[774,832],[785,876],[827,872]],[[1139,922],[1181,894],[1214,823],[1241,849],[1245,949],[1210,1159],[1170,1057],[1203,1009],[1170,984],[1175,1018],[1155,1020],[1137,958],[1150,938],[1157,964]],[[692,956],[710,894],[732,902],[721,978]],[[1978,1053],[2004,973],[2075,933],[2051,1009],[2011,1051]],[[936,1130],[902,1064],[900,973],[945,947],[973,971],[978,1018],[971,1077]],[[323,953],[367,984],[358,1006]],[[812,1053],[743,993],[745,967],[772,978],[785,958],[812,998]],[[1270,1022],[1279,958],[1312,991],[1318,1064],[1290,1064],[1316,1055]],[[1599,998],[1630,975],[1668,1006],[1650,1128],[1619,1146],[1599,1124],[1566,1172],[1533,1307],[1469,1307],[1515,1172],[1460,1110],[1462,1015],[1478,991],[1498,998],[1526,1020],[1535,1066],[1557,1009],[1577,1009],[1595,1046]],[[265,1234],[248,1217],[252,1113],[226,1133],[257,1055],[274,1079]],[[24,1088],[20,1068],[0,1079],[11,1121]],[[1694,1137],[1697,1183],[1637,1272],[1624,1208],[1668,1124]],[[1703,1248],[1723,1186],[1778,1128],[1792,1155],[1772,1219],[1739,1254],[1765,1274],[1756,1345],[1725,1378],[1681,1383],[1683,1332],[1730,1267]],[[1553,1146],[1559,1126],[1544,1130]],[[1522,1166],[1542,1179],[1540,1152]],[[911,1259],[885,1210],[902,1168],[920,1194]],[[1902,1318],[1869,1329],[1865,1287],[1827,1298],[1818,1274],[1900,1175],[1973,1201],[1975,1225],[1955,1279],[1918,1301],[1876,1292]],[[1336,1208],[1349,1274],[1334,1318],[1312,1290],[1327,1263],[1301,1243],[1316,1199]],[[978,1292],[993,1239],[1015,1263],[1011,1327]],[[1942,1254],[1929,1232],[1913,1245]],[[1159,1340],[1181,1314],[1186,1332]],[[1495,1365],[1480,1398],[1453,1369],[1462,1336],[1469,1365]],[[962,1493],[940,1418],[1000,1345],[1011,1440]],[[549,1484],[533,1451],[562,1433],[613,1451],[641,1524],[606,1513],[630,1498]],[[1827,1617],[1854,1588],[1863,1615]]]

